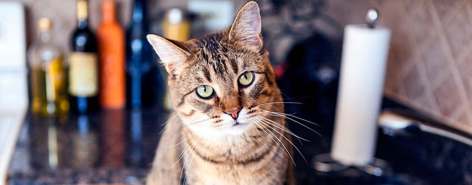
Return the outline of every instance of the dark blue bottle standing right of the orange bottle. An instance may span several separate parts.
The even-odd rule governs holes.
[[[127,31],[127,63],[126,72],[129,77],[129,99],[132,108],[140,108],[143,102],[152,102],[152,77],[154,68],[151,45],[148,44],[146,33],[149,25],[146,11],[146,0],[135,0],[133,5],[132,23]],[[150,85],[143,85],[149,83]],[[152,84],[152,85],[151,85]]]

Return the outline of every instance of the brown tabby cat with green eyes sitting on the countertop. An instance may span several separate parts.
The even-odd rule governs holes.
[[[148,185],[295,184],[291,132],[256,2],[231,27],[200,39],[147,38],[174,106]]]

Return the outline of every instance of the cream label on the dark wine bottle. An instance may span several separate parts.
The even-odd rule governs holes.
[[[98,70],[96,54],[73,52],[69,62],[69,93],[79,97],[97,95]]]

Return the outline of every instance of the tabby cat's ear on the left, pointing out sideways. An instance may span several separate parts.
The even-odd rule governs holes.
[[[177,66],[187,61],[188,52],[182,50],[169,40],[153,34],[149,34],[147,38],[164,64],[167,72],[170,73]]]

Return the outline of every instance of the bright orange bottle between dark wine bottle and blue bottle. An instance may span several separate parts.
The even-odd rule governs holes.
[[[97,29],[100,58],[100,106],[121,109],[126,104],[125,34],[115,19],[115,2],[102,2],[102,22]]]

